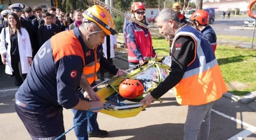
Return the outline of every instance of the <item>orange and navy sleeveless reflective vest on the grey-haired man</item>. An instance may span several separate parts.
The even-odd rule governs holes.
[[[173,42],[178,36],[192,37],[196,47],[194,60],[174,87],[177,102],[181,105],[202,105],[218,100],[227,92],[227,87],[208,39],[188,25],[178,29]]]

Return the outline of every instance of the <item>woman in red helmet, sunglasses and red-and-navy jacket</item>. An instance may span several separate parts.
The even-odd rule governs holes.
[[[146,10],[143,3],[135,2],[131,9],[132,17],[143,23]],[[131,22],[125,28],[124,33],[127,38],[126,45],[128,48],[129,67],[133,67],[139,63],[143,64],[146,58],[155,57],[156,54],[152,46],[152,38],[148,29]]]

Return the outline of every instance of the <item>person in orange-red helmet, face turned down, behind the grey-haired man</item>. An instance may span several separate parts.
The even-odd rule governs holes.
[[[203,35],[205,35],[212,45],[213,52],[215,52],[217,47],[217,36],[210,25],[209,22],[209,13],[205,10],[198,10],[192,14],[190,17],[193,22],[193,26],[199,30]]]

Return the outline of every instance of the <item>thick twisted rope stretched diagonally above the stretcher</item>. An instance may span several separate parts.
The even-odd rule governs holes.
[[[160,35],[160,36],[166,38],[167,40],[172,40],[172,39],[170,39],[170,38],[167,38],[167,37],[164,36],[163,34],[160,34],[158,31],[156,31],[156,30],[154,30],[154,29],[148,27],[147,25],[145,25],[145,24],[143,24],[143,23],[137,21],[136,19],[131,18],[130,16],[127,16],[127,15],[124,14],[123,12],[120,12],[120,11],[118,11],[117,9],[115,9],[115,8],[113,8],[113,7],[111,7],[111,6],[108,6],[107,4],[105,4],[104,2],[102,2],[102,1],[100,1],[100,0],[91,0],[91,1],[93,1],[94,4],[97,3],[98,5],[101,5],[102,7],[106,8],[106,9],[108,9],[108,10],[113,11],[113,12],[116,13],[117,15],[121,15],[121,16],[123,16],[123,17],[129,19],[130,21],[139,24],[140,26],[149,29],[150,31],[152,31],[152,32],[154,32],[154,33],[156,33],[156,34],[158,34],[158,35]]]

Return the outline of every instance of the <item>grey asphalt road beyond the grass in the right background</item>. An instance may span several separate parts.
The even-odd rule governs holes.
[[[215,19],[213,24],[210,24],[217,35],[235,35],[235,36],[253,36],[253,30],[234,30],[229,29],[230,26],[243,26],[243,22],[246,18],[230,18],[230,19],[222,19],[218,17]],[[150,25],[157,30],[156,25]],[[256,35],[255,35],[256,36]]]

